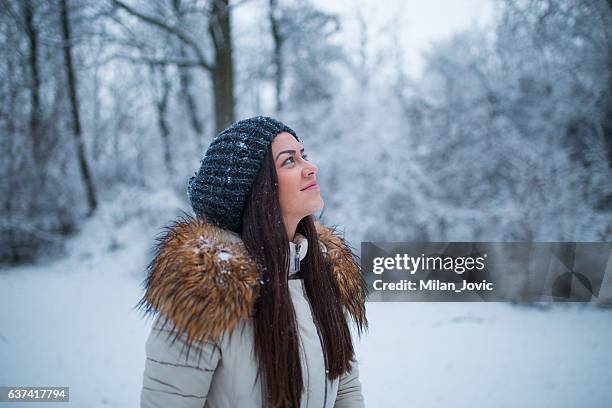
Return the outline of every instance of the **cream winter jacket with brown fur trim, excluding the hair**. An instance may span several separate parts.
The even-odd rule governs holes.
[[[317,223],[319,242],[347,316],[365,323],[365,285],[344,241]],[[357,362],[330,381],[302,279],[292,276],[308,240],[290,246],[289,291],[304,378],[301,407],[363,407]],[[146,342],[141,408],[262,407],[252,305],[259,273],[238,234],[187,217],[167,227],[149,264],[138,307],[155,315]]]

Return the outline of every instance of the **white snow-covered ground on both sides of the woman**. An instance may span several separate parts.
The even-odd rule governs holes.
[[[168,197],[147,204],[181,205]],[[68,256],[0,271],[0,385],[69,386],[75,407],[138,406],[150,322],[132,307],[158,224],[113,214],[86,223]],[[368,303],[367,313],[357,353],[369,407],[612,407],[610,310]],[[62,404],[32,404],[47,405]]]

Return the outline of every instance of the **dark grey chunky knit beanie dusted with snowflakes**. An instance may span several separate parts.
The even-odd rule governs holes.
[[[200,170],[187,185],[195,214],[239,233],[253,181],[272,140],[282,132],[289,132],[300,142],[289,126],[265,116],[238,121],[215,136],[200,162]]]

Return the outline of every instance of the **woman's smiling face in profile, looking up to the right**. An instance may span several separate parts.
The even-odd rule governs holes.
[[[304,148],[290,133],[272,141],[272,157],[278,176],[278,198],[286,220],[301,220],[323,208],[316,181],[318,167],[308,161]]]

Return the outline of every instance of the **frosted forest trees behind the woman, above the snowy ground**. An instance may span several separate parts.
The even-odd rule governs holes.
[[[117,189],[187,209],[216,131],[255,114],[298,131],[353,242],[612,237],[609,2],[494,2],[418,77],[358,5],[225,3],[2,2],[3,261],[60,249]]]

